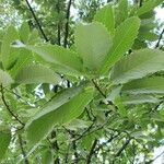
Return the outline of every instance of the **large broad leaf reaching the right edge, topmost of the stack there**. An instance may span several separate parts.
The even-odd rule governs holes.
[[[140,79],[164,69],[164,52],[157,49],[141,49],[124,57],[112,70],[115,84]]]

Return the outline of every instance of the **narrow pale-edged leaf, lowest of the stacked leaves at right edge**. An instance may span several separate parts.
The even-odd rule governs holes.
[[[128,95],[126,97],[122,97],[122,104],[125,105],[137,105],[137,104],[143,104],[143,103],[159,103],[160,99],[152,95]]]

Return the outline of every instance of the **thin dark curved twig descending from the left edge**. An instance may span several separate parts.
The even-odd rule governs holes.
[[[3,102],[4,106],[5,106],[5,108],[7,108],[8,112],[10,113],[10,115],[11,115],[12,117],[14,117],[15,120],[17,120],[17,121],[24,127],[25,124],[22,122],[22,121],[20,120],[20,118],[10,109],[10,106],[8,105],[8,103],[7,103],[7,101],[5,101],[5,97],[4,97],[4,91],[3,91],[2,84],[1,84],[1,98],[2,98],[2,102]]]

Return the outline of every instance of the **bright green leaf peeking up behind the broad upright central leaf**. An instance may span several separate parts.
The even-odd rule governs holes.
[[[114,19],[114,9],[110,4],[105,5],[99,11],[96,12],[94,16],[94,21],[97,21],[104,24],[109,34],[114,34],[115,32],[115,19]]]

